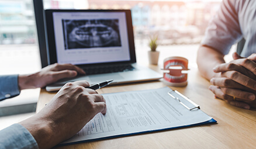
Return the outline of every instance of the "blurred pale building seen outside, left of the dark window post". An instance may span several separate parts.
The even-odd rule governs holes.
[[[0,1],[0,44],[35,43],[30,0]]]

